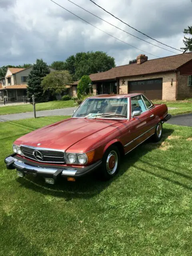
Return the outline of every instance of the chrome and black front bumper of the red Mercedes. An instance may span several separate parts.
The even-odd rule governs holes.
[[[89,172],[96,170],[101,165],[101,160],[98,162],[91,164],[90,166],[86,166],[83,168],[74,168],[70,166],[54,166],[45,164],[34,163],[29,160],[24,160],[16,154],[12,154],[5,158],[4,162],[6,163],[7,169],[16,169],[25,174],[32,174],[34,176],[43,176],[47,178],[53,178],[57,180],[59,177],[81,177]],[[34,165],[33,165],[34,164]]]

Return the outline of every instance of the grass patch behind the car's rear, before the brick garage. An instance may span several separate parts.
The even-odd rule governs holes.
[[[170,114],[179,115],[179,114],[187,114],[192,113],[192,98],[187,100],[176,100],[176,101],[168,101],[168,100],[152,100],[154,104],[166,104],[170,108],[176,108],[168,110]]]

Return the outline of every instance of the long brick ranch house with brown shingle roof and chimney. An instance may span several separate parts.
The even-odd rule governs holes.
[[[145,55],[137,62],[90,74],[94,94],[144,93],[150,99],[180,100],[192,97],[192,53],[154,60]],[[79,81],[72,84],[76,95]]]

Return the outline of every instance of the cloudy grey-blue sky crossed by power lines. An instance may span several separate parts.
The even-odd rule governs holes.
[[[54,1],[108,34],[140,50],[86,24],[50,0],[0,0],[0,66],[34,63],[36,58],[43,58],[51,64],[56,60],[65,60],[77,52],[91,50],[107,52],[115,58],[116,65],[128,64],[128,61],[136,58],[138,54],[146,54],[149,59],[156,58],[146,52],[159,57],[174,55],[106,24],[68,0]],[[131,34],[158,44],[122,24],[89,0],[72,1]],[[95,0],[95,2],[134,28],[178,49],[183,46],[182,31],[192,25],[190,0]],[[179,53],[177,50],[172,51]]]

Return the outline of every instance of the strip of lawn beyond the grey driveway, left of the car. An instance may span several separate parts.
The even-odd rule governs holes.
[[[73,100],[54,100],[49,102],[36,103],[36,111],[50,110],[50,109],[57,109],[57,108],[69,108],[69,107],[74,107]],[[0,115],[32,112],[32,111],[33,111],[32,104],[0,107]]]

